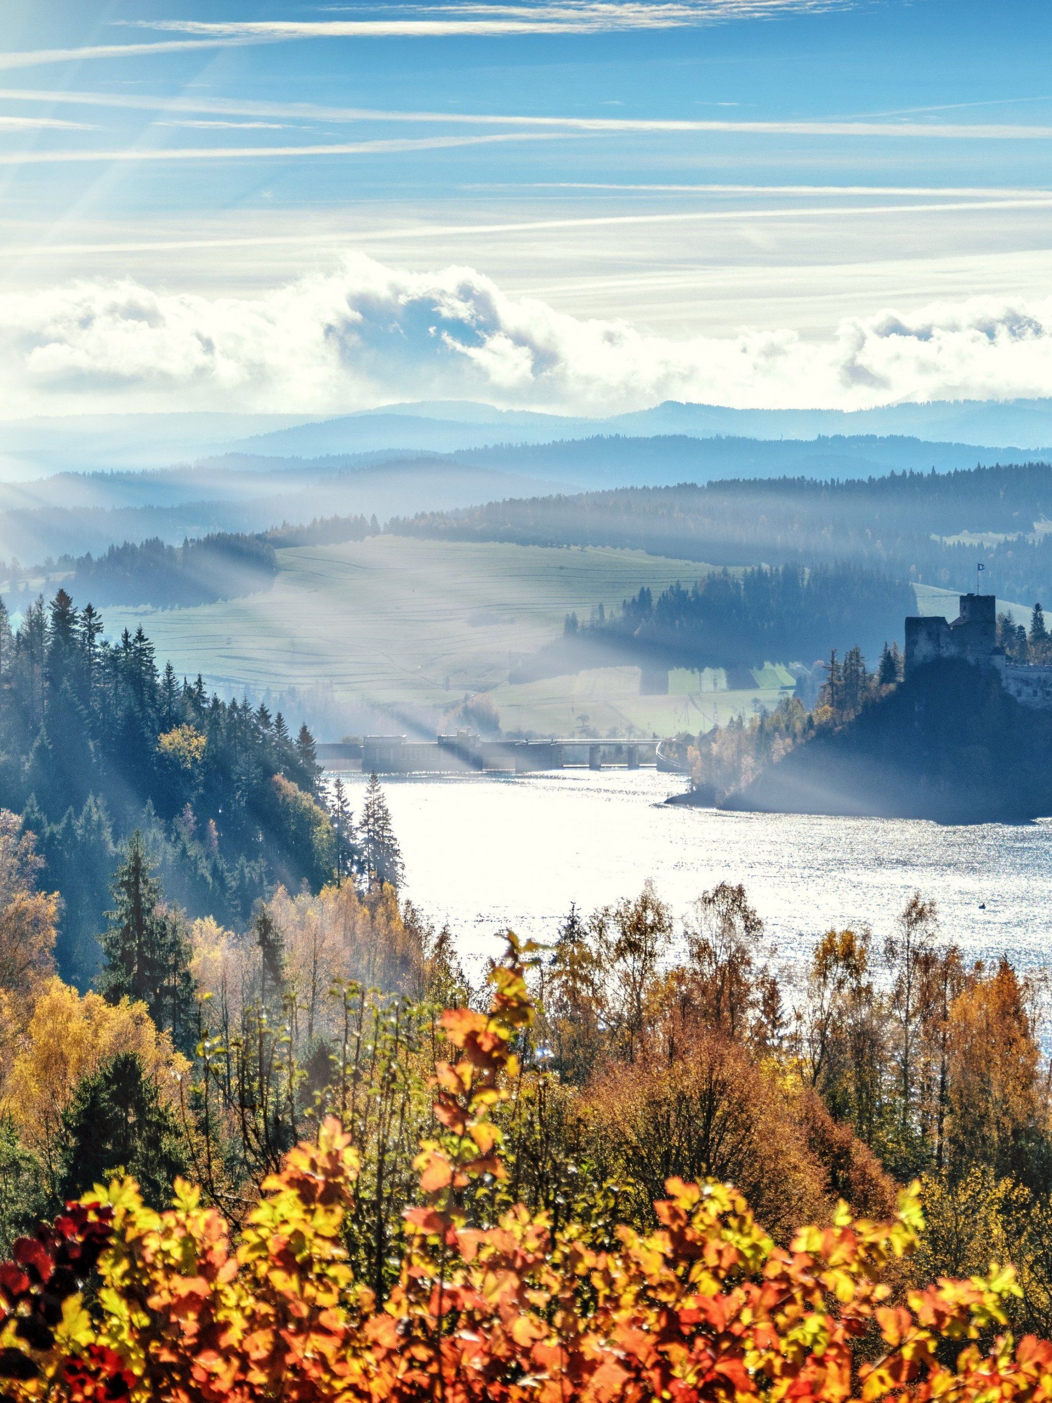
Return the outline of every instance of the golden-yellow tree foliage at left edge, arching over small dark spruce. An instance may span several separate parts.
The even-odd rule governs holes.
[[[174,1103],[178,1078],[189,1070],[167,1033],[153,1026],[144,1003],[107,1003],[94,992],[77,993],[59,978],[45,985],[25,1038],[6,1079],[3,1110],[24,1143],[50,1170],[62,1134],[62,1113],[81,1078],[118,1052],[135,1052],[156,1080],[161,1099]]]

